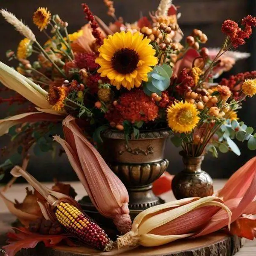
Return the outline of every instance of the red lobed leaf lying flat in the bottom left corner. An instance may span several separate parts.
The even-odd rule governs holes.
[[[44,242],[46,247],[52,247],[60,243],[62,240],[66,241],[69,246],[72,246],[73,242],[68,239],[68,234],[61,235],[41,235],[38,233],[32,233],[26,228],[15,228],[18,233],[10,232],[7,234],[9,237],[9,244],[4,246],[6,255],[15,256],[15,254],[22,248],[34,248],[39,242]],[[73,244],[74,246],[74,244]]]

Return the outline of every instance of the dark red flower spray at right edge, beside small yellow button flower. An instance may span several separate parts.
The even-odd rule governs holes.
[[[256,70],[245,73],[238,73],[235,76],[230,76],[229,79],[223,78],[220,82],[221,85],[226,85],[230,88],[233,93],[233,97],[235,99],[239,96],[239,90],[241,89],[241,84],[244,79],[255,79],[256,78]]]

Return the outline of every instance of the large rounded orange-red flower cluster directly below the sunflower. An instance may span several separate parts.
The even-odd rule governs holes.
[[[148,122],[157,118],[158,111],[159,108],[151,97],[142,90],[135,90],[120,96],[117,105],[113,107],[112,111],[106,113],[105,117],[115,124],[121,123],[123,120],[128,120],[131,123]]]

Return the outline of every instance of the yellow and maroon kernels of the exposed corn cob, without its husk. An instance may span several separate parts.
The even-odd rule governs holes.
[[[55,215],[58,222],[84,244],[105,250],[111,243],[108,235],[95,221],[71,204],[58,204]]]

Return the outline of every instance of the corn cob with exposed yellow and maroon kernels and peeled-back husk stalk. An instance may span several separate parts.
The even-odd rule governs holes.
[[[46,199],[46,204],[38,201],[44,218],[57,220],[68,233],[84,244],[99,250],[111,249],[112,241],[108,235],[89,216],[81,212],[79,204],[73,198],[48,189],[19,166],[15,166],[11,174],[14,177],[23,176]]]

